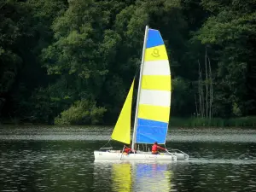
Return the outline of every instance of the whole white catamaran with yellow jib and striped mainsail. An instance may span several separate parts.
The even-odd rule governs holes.
[[[171,109],[171,70],[166,46],[160,32],[145,28],[143,56],[137,92],[137,106],[134,119],[134,130],[131,141],[131,103],[134,88],[126,97],[119,119],[114,126],[111,139],[130,144],[131,150],[137,153],[125,154],[123,150],[100,148],[94,151],[95,160],[189,160],[189,155],[178,149],[172,152],[151,154],[151,151],[139,149],[140,144],[166,143]]]

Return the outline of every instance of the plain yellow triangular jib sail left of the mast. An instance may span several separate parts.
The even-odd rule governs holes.
[[[125,104],[119,114],[119,119],[114,126],[111,138],[121,143],[131,143],[131,102],[133,94],[134,79],[131,84]]]

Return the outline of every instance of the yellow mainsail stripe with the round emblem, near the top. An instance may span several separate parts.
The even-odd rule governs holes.
[[[166,46],[160,45],[145,50],[145,61],[168,60]]]

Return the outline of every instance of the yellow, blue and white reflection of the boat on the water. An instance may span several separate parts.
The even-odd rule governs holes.
[[[97,161],[94,163],[94,187],[102,189],[106,183],[111,183],[111,190],[116,192],[170,191],[172,171],[168,166],[172,163]]]

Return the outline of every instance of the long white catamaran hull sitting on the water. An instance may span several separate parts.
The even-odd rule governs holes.
[[[187,154],[122,154],[108,151],[94,151],[95,160],[189,160]]]

